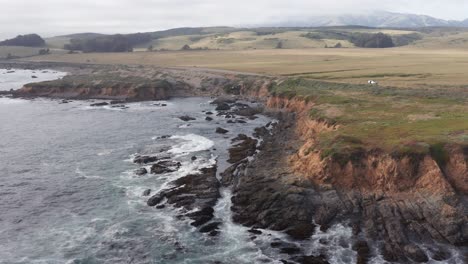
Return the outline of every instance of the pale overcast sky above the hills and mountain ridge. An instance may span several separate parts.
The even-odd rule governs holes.
[[[468,18],[467,0],[0,0],[0,38],[248,26],[288,18],[385,10]]]

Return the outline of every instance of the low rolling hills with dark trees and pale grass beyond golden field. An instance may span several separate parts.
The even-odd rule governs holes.
[[[127,35],[75,34],[49,39],[53,48],[83,52],[246,50],[303,48],[389,48],[411,45],[427,33],[367,27],[177,28]]]

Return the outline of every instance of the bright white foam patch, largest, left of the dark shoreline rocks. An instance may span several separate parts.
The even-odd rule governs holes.
[[[214,146],[214,142],[212,140],[195,134],[188,134],[185,136],[172,136],[171,139],[182,140],[182,142],[173,146],[168,151],[169,153],[176,155],[187,155],[193,152],[204,151]]]

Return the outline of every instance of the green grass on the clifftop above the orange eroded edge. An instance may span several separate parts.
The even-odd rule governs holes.
[[[468,144],[466,90],[403,89],[298,78],[287,79],[272,92],[311,100],[315,103],[311,118],[339,125],[338,130],[319,136],[324,158],[344,160],[362,148],[379,148],[430,153],[443,163],[441,146]],[[330,112],[335,114],[327,114]]]

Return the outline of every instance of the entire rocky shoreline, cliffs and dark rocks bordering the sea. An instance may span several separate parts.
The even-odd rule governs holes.
[[[88,78],[90,74],[94,79]],[[270,82],[268,77],[180,69],[90,66],[64,81],[26,85],[12,95],[124,102],[225,94],[266,99]],[[223,116],[248,119],[263,111],[232,99],[215,103]],[[222,223],[213,220],[213,207],[220,188],[227,187],[233,191],[234,222],[251,227],[252,234],[275,230],[293,241],[307,241],[318,230],[326,232],[340,223],[352,229],[348,242],[359,264],[372,263],[377,255],[397,263],[444,262],[454,258],[454,249],[461,254],[459,259],[468,260],[467,149],[450,149],[451,159],[444,167],[430,157],[391,157],[375,149],[356,153],[345,164],[323,160],[320,150],[308,150],[317,133],[335,127],[311,120],[304,102],[270,97],[265,104],[278,122],[256,129],[256,138],[240,134],[233,139],[231,165],[220,172],[221,179],[216,166],[201,169],[153,194],[148,205],[183,208],[180,218],[216,236]],[[177,167],[149,162],[156,162],[153,173]],[[150,196],[151,190],[144,195]],[[326,252],[310,255],[287,241],[273,240],[271,247],[290,256],[283,263],[328,263]]]

